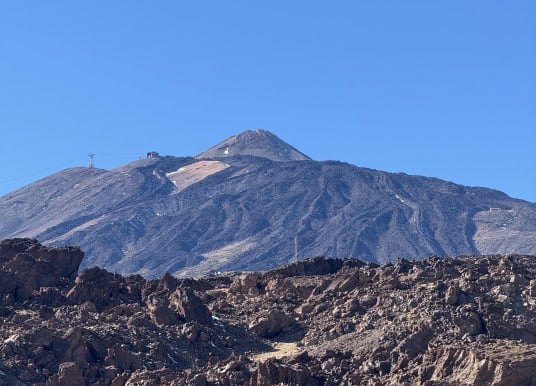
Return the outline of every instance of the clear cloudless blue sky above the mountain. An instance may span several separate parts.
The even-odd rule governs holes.
[[[536,2],[10,1],[0,194],[264,128],[536,201]]]

